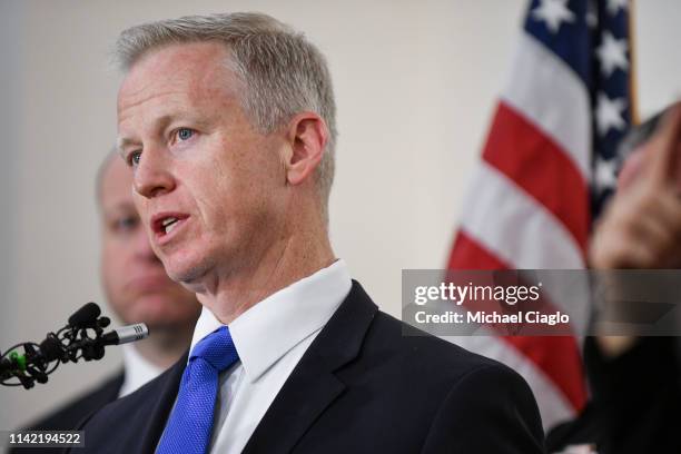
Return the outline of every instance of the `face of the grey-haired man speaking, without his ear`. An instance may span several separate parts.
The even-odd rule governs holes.
[[[227,59],[214,42],[151,51],[118,97],[135,203],[166,270],[187,285],[255,268],[285,217],[286,137],[251,126]]]

